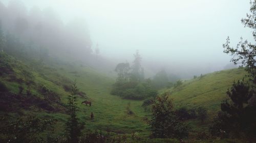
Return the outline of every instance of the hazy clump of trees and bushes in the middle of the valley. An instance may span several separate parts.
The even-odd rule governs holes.
[[[115,71],[118,77],[113,85],[111,94],[124,99],[136,100],[155,97],[157,91],[152,88],[151,79],[144,79],[143,68],[140,65],[141,58],[138,51],[134,55],[134,58],[132,67],[130,67],[129,63],[120,63],[116,66]]]

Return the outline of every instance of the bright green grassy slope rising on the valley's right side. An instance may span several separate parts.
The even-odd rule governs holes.
[[[163,91],[171,93],[177,107],[203,106],[210,111],[218,111],[221,101],[227,99],[226,92],[232,86],[233,81],[246,78],[246,74],[244,69],[217,71],[184,81],[177,88]]]

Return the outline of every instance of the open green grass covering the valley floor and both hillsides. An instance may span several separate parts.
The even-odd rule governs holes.
[[[148,137],[150,129],[147,124],[150,113],[145,112],[143,101],[126,100],[110,95],[115,79],[99,73],[80,62],[62,62],[49,58],[45,61],[18,60],[0,53],[0,81],[9,91],[1,95],[0,115],[9,118],[17,115],[33,114],[44,118],[56,118],[55,132],[63,134],[67,115],[67,97],[72,81],[77,80],[79,88],[78,118],[86,123],[86,130],[104,130],[115,133],[138,132]],[[234,80],[245,77],[244,69],[231,69],[205,74],[196,79],[186,80],[176,88],[164,89],[174,98],[175,107],[196,108],[206,107],[210,117],[220,110],[220,103],[226,99],[226,91]],[[24,87],[19,94],[19,86]],[[47,87],[49,92],[42,92]],[[26,91],[31,91],[28,96]],[[81,104],[84,100],[92,101],[92,106]],[[126,113],[127,104],[131,104],[134,115]],[[90,114],[94,113],[94,121]],[[199,120],[189,120],[191,126],[189,137],[195,138],[198,132],[207,131],[211,118],[204,124]],[[223,141],[225,142],[225,141]]]

